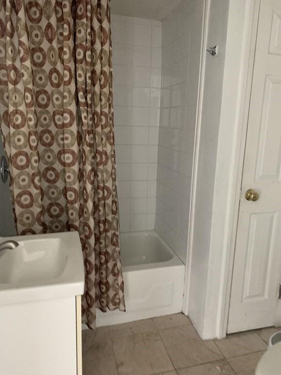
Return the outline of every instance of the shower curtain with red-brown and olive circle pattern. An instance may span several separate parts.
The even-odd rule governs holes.
[[[18,234],[77,230],[82,318],[125,310],[110,0],[0,0],[0,125]]]

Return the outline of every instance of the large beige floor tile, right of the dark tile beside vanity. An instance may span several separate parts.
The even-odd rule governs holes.
[[[174,370],[157,332],[113,339],[119,375],[152,375]]]

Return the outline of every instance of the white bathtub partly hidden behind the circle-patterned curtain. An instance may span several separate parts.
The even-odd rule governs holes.
[[[185,266],[154,231],[121,233],[126,312],[97,310],[97,327],[182,311]]]

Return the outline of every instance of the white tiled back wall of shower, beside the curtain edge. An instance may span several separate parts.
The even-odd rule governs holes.
[[[112,16],[112,42],[120,229],[154,229],[161,22]]]

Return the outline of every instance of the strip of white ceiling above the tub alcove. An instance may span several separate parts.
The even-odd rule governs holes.
[[[182,0],[111,0],[111,13],[120,16],[163,20]]]

